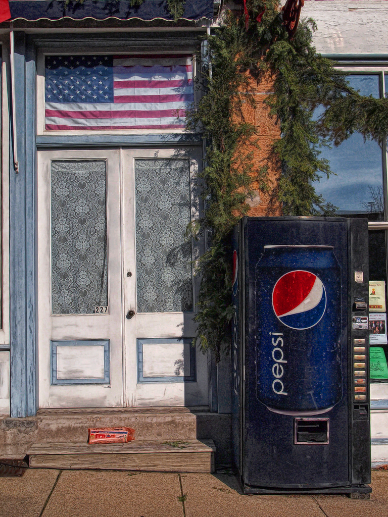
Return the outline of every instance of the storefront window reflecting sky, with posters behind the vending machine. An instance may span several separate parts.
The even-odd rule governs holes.
[[[348,80],[362,95],[375,98],[383,97],[388,87],[388,75],[383,81],[382,71],[350,73]],[[336,207],[336,215],[369,221],[369,303],[373,296],[377,300],[370,305],[370,380],[387,382],[386,303],[381,299],[387,299],[386,151],[377,142],[353,134],[338,147],[322,149],[320,157],[330,161],[335,175],[315,183],[317,193]]]

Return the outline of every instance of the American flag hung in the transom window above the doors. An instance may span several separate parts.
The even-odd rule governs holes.
[[[179,129],[192,56],[46,56],[47,130]]]

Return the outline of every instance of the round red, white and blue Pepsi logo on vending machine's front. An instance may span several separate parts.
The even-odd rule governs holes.
[[[272,307],[286,327],[306,330],[322,319],[326,291],[322,281],[309,271],[290,271],[279,278],[272,292]]]

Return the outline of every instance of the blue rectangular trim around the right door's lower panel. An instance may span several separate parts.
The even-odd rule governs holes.
[[[150,338],[138,339],[138,383],[195,383],[197,380],[196,368],[196,348],[191,346],[193,338]],[[158,344],[158,343],[184,343],[189,345],[190,350],[190,375],[183,376],[166,376],[166,377],[144,377],[143,376],[143,345],[144,344]]]

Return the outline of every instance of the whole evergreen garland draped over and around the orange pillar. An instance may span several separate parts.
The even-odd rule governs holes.
[[[359,95],[331,60],[316,53],[314,21],[301,22],[290,38],[278,0],[247,0],[246,5],[249,18],[229,13],[223,27],[206,38],[212,68],[204,64],[206,92],[187,116],[187,129],[201,127],[211,142],[201,173],[205,214],[192,232],[208,238],[197,265],[202,276],[197,339],[216,360],[230,342],[231,230],[247,214],[253,190],[268,189],[266,169],[256,170],[252,161],[257,129],[241,117],[243,102],[255,105],[244,72],[249,68],[258,81],[265,72],[273,74],[274,93],[266,102],[281,129],[271,160],[281,170],[273,196],[283,215],[334,215],[336,207],[312,185],[332,174],[329,162],[319,157],[320,147],[331,141],[338,145],[354,131],[381,144],[388,133],[388,100]],[[315,119],[320,105],[323,113]]]

